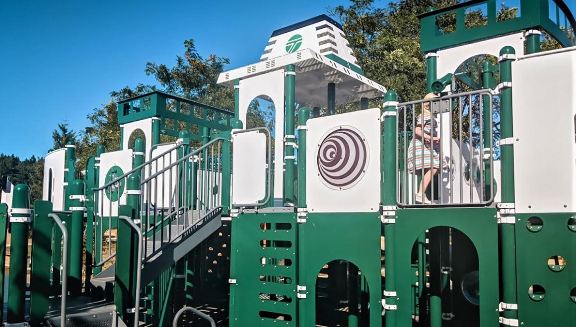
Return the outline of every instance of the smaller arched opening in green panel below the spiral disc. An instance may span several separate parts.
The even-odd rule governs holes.
[[[330,261],[316,279],[316,326],[369,326],[370,291],[358,266]]]

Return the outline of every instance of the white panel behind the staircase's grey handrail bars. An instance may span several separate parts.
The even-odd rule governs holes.
[[[173,148],[173,144],[160,145],[154,148],[152,151],[152,157],[156,157],[161,153],[168,151]],[[157,159],[158,164],[151,164],[151,174],[147,176],[152,176],[156,172],[163,170],[170,166],[170,163],[175,163],[178,160],[178,151],[174,149],[165,156]],[[164,174],[160,174],[157,178],[150,181],[150,201],[151,206],[156,206],[157,208],[170,208],[176,205],[176,179],[178,167],[174,166],[169,170],[166,170]],[[170,179],[172,180],[170,182]],[[158,186],[156,186],[158,185]],[[147,194],[147,186],[145,185],[145,194]],[[148,198],[144,199],[147,202]]]

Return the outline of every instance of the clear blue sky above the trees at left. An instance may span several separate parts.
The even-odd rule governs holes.
[[[274,29],[346,0],[18,1],[0,6],[0,153],[44,156],[52,130],[109,101],[109,92],[153,84],[146,62],[172,65],[194,39],[229,68],[257,62]]]

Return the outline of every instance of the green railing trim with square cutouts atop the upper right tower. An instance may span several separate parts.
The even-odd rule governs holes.
[[[571,47],[574,40],[567,35],[567,31],[560,29],[556,21],[549,18],[549,4],[551,0],[520,0],[521,16],[509,20],[497,21],[497,2],[499,0],[472,0],[461,2],[454,6],[433,10],[418,16],[420,18],[420,50],[433,52],[444,48],[450,48],[465,43],[471,43],[497,36],[507,35],[528,29],[543,29],[554,37],[564,47]],[[552,0],[564,13],[566,21],[576,29],[576,20],[569,8],[562,0]],[[487,24],[465,28],[466,11],[486,8]],[[456,24],[456,31],[443,34],[436,25],[437,17],[453,15],[451,19]],[[564,24],[564,22],[560,22]]]

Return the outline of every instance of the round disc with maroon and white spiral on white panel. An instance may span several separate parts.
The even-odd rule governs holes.
[[[366,174],[370,151],[366,137],[352,126],[329,130],[316,151],[320,181],[333,190],[346,190]]]

